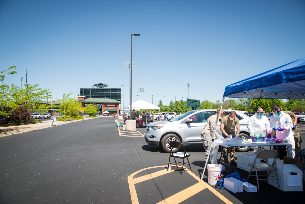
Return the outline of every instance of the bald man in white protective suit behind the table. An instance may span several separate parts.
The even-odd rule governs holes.
[[[266,132],[268,133],[267,137],[271,137],[271,128],[269,120],[266,116],[264,116],[264,109],[258,108],[257,114],[250,117],[248,121],[247,128],[251,135],[257,133],[257,132],[264,132],[264,136],[266,135]],[[262,150],[261,147],[255,147],[253,154],[257,154]]]

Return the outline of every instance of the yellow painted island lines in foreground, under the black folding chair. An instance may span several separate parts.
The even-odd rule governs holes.
[[[139,204],[139,200],[138,200],[138,196],[137,196],[137,192],[135,189],[135,184],[144,182],[146,180],[149,179],[153,179],[156,178],[158,176],[163,176],[165,174],[168,173],[172,173],[174,170],[169,170],[167,171],[167,169],[163,169],[160,170],[158,172],[154,172],[145,176],[140,176],[138,178],[133,178],[136,174],[138,174],[139,172],[142,172],[144,170],[147,169],[153,169],[153,168],[160,168],[160,167],[167,167],[167,166],[153,166],[153,167],[148,167],[145,169],[141,169],[138,170],[136,172],[134,172],[133,174],[128,176],[128,184],[129,184],[129,189],[130,189],[130,195],[131,195],[131,202],[133,204]],[[185,168],[185,167],[184,167]],[[185,172],[189,173],[192,177],[194,177],[198,183],[184,189],[183,191],[180,191],[168,198],[165,198],[164,200],[158,202],[158,203],[165,203],[165,204],[175,204],[175,203],[181,203],[183,201],[185,201],[186,199],[192,197],[193,195],[196,195],[197,193],[199,193],[200,191],[203,191],[204,189],[208,189],[209,191],[211,191],[214,195],[217,196],[217,198],[221,199],[224,203],[227,204],[233,204],[231,201],[229,201],[227,198],[225,198],[223,195],[221,195],[218,191],[216,191],[213,187],[210,186],[210,184],[207,184],[204,181],[201,181],[200,178],[198,176],[196,176],[194,173],[192,173],[191,171],[189,171],[187,168],[185,168]],[[178,180],[177,180],[178,182]]]

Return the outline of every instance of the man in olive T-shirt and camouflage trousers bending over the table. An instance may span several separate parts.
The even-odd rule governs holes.
[[[236,133],[235,133],[235,127],[236,127]],[[222,136],[224,139],[231,139],[231,137],[238,137],[240,128],[239,128],[239,119],[236,117],[236,112],[232,110],[229,115],[224,116],[221,119],[220,123],[220,130],[222,132]],[[235,158],[235,147],[229,148],[229,154],[231,157],[230,164],[237,165]],[[224,158],[224,164],[228,164],[227,158],[228,158],[228,151],[227,147],[222,148],[222,157]]]

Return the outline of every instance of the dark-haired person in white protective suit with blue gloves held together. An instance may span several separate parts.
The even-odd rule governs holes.
[[[292,133],[293,124],[291,117],[284,113],[279,105],[273,107],[273,116],[270,118],[270,128],[274,131],[273,135],[276,136],[277,139],[289,143],[289,146],[287,146],[287,156],[294,158],[295,142]]]

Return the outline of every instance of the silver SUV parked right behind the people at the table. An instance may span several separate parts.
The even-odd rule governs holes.
[[[231,110],[224,111],[228,115]],[[152,146],[162,147],[166,152],[170,152],[169,143],[172,140],[179,141],[185,146],[202,146],[201,131],[206,120],[215,114],[216,109],[192,110],[169,121],[150,123],[145,131],[145,142]],[[248,138],[250,134],[247,124],[250,117],[240,111],[236,111],[236,117],[240,124],[238,137]],[[222,134],[220,122],[218,122],[217,132]],[[241,147],[238,151],[245,152],[249,149],[250,147]]]

